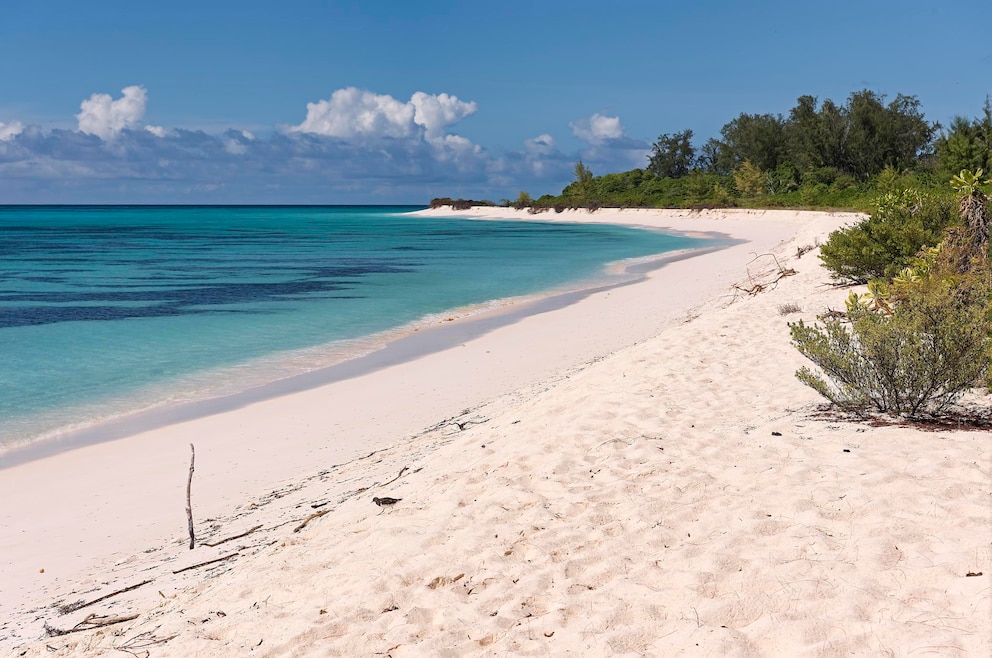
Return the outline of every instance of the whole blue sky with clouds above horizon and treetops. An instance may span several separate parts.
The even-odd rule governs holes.
[[[992,93],[992,2],[3,0],[0,204],[557,194],[801,95]]]

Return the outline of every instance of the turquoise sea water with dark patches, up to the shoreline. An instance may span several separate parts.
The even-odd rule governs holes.
[[[0,444],[243,390],[700,246],[398,207],[0,207]]]

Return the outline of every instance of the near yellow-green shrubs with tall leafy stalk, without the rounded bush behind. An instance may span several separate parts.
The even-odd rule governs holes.
[[[838,406],[938,414],[968,388],[992,390],[992,213],[982,172],[952,180],[961,222],[891,281],[851,294],[847,324],[790,324],[792,342],[820,367],[796,376]],[[827,383],[824,376],[830,380]]]

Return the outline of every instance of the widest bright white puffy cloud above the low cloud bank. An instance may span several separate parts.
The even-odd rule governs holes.
[[[338,89],[326,101],[307,103],[307,116],[290,132],[346,140],[411,138],[421,130],[428,141],[444,142],[445,128],[478,106],[448,94],[418,91],[408,102],[356,87]]]

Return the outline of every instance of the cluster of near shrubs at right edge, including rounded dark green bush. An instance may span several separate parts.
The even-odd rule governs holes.
[[[796,376],[843,409],[917,417],[945,413],[969,388],[992,389],[992,262],[982,171],[952,179],[948,216],[919,191],[888,195],[856,226],[831,234],[824,265],[870,279],[844,319],[791,324],[796,348],[820,371]],[[939,239],[938,238],[939,235]]]

